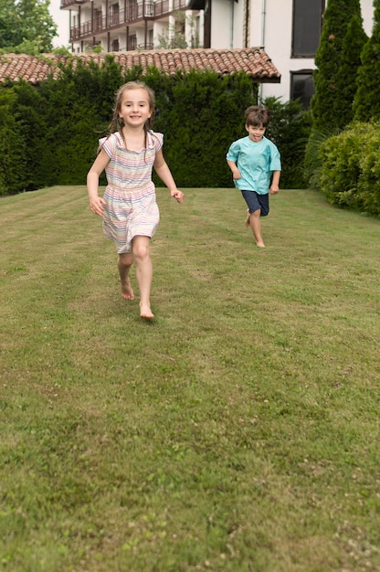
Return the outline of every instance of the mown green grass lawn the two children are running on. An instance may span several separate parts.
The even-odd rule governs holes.
[[[2,569],[380,570],[379,220],[157,194],[153,323],[84,187],[0,200]]]

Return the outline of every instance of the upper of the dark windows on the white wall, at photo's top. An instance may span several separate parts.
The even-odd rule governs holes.
[[[293,0],[293,58],[314,58],[320,43],[324,0]]]

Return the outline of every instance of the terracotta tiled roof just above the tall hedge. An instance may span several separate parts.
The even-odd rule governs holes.
[[[102,54],[80,54],[78,56],[58,56],[56,54],[41,54],[26,56],[25,54],[5,54],[0,56],[0,81],[5,78],[18,80],[26,79],[37,84],[53,72],[57,78],[58,63],[67,64],[80,59],[84,64],[90,60],[102,64],[107,56],[113,56],[123,69],[131,69],[140,65],[145,71],[155,67],[168,74],[190,69],[212,69],[224,75],[234,71],[245,71],[253,81],[258,83],[280,82],[280,72],[273,65],[263,48],[241,49],[156,49],[150,51],[125,51]]]

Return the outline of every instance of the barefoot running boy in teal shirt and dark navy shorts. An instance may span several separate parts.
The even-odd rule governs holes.
[[[260,217],[269,215],[269,193],[279,192],[280,153],[276,145],[264,137],[269,109],[251,105],[245,111],[245,118],[248,137],[231,144],[227,164],[248,206],[246,226],[251,228],[256,245],[263,249]]]

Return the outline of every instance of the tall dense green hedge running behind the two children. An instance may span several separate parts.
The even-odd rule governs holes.
[[[122,72],[111,55],[102,66],[80,58],[32,86],[26,81],[0,87],[0,194],[51,185],[83,185],[98,141],[111,122],[114,95],[122,83],[142,79],[156,96],[154,129],[164,132],[164,155],[177,185],[233,186],[226,154],[247,135],[244,111],[258,100],[258,86],[241,72],[219,77],[213,71],[164,75],[139,67]],[[306,115],[294,102],[273,107],[270,129],[279,145],[283,187],[301,186]],[[288,133],[288,135],[287,135]],[[270,136],[270,133],[269,133]],[[159,184],[156,175],[154,180]],[[101,184],[105,184],[102,175]]]

